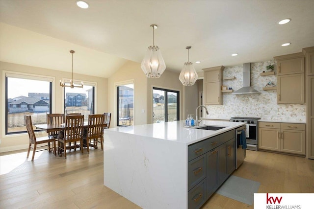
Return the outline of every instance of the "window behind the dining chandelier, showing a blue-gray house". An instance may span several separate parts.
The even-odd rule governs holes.
[[[84,84],[83,88],[64,87],[64,115],[69,113],[80,113],[84,120],[88,115],[95,114],[95,86]]]

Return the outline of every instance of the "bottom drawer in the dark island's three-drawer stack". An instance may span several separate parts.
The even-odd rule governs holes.
[[[207,200],[206,197],[206,179],[191,189],[188,194],[188,209],[199,209]]]

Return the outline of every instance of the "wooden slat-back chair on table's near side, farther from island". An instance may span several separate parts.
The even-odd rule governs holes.
[[[80,148],[83,154],[83,140],[82,129],[84,123],[84,116],[66,116],[64,131],[58,137],[58,154],[61,157],[62,151],[64,157],[67,158],[67,149]],[[79,144],[77,143],[79,141]],[[73,142],[73,145],[72,145]],[[68,145],[67,145],[68,144]]]

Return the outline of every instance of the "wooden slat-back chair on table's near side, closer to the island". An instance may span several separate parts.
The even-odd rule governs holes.
[[[104,115],[88,115],[88,126],[86,129],[86,136],[83,135],[83,146],[87,147],[87,152],[89,153],[89,147],[92,146],[97,149],[97,142],[99,138],[102,138],[104,129]],[[91,140],[93,139],[93,144]],[[103,148],[103,141],[100,140]]]

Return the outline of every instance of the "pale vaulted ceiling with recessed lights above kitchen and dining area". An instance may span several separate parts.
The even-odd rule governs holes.
[[[167,70],[270,60],[314,46],[314,0],[0,0],[0,61],[109,77],[153,44]],[[292,21],[285,25],[278,22]],[[290,42],[290,46],[281,44]],[[232,57],[232,53],[238,56]]]

